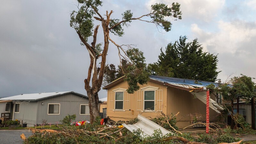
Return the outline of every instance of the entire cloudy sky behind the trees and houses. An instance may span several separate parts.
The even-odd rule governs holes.
[[[112,18],[131,10],[134,17],[150,12],[155,3],[180,3],[182,20],[164,32],[154,24],[132,21],[124,36],[110,35],[117,44],[136,44],[146,63],[156,62],[167,44],[180,36],[198,38],[205,52],[218,54],[218,78],[256,77],[256,0],[103,0],[99,12],[113,10]],[[86,95],[84,79],[89,53],[70,27],[75,0],[4,0],[0,4],[0,97],[25,93],[74,91]],[[95,22],[95,24],[98,24]],[[98,43],[103,41],[99,28]],[[91,43],[92,38],[88,39]],[[119,64],[110,43],[107,63]],[[99,98],[107,96],[100,90]]]

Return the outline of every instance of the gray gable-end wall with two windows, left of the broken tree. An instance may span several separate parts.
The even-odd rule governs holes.
[[[43,105],[42,102],[44,103]],[[49,103],[60,104],[59,115],[48,115]],[[88,99],[73,93],[40,100],[38,101],[37,124],[41,124],[43,119],[47,120],[47,123],[55,124],[59,122],[60,124],[60,120],[68,114],[76,114],[77,121],[90,120],[90,115],[80,115],[80,104],[88,104]]]

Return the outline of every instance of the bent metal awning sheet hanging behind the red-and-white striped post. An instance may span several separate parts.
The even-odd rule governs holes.
[[[195,95],[197,99],[201,100],[203,103],[206,104],[206,91],[203,91],[203,92],[192,92],[192,94]],[[212,108],[217,113],[220,113],[220,111],[218,109],[221,109],[221,110],[224,109],[216,101],[212,100],[211,98],[210,98],[209,105],[210,105],[210,108]]]

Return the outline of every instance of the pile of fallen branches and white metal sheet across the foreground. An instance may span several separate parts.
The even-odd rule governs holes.
[[[160,113],[159,113],[160,114]],[[211,134],[181,133],[176,124],[176,115],[164,115],[163,113],[156,118],[148,118],[138,115],[137,118],[129,123],[116,123],[114,125],[85,124],[81,126],[57,126],[61,130],[38,130],[31,129],[34,134],[28,138],[24,134],[20,135],[24,143],[188,143],[188,144],[240,144],[228,133],[223,130],[211,129]],[[198,122],[198,124],[204,124]],[[196,123],[195,123],[196,124]],[[215,128],[220,128],[218,124],[213,124]],[[193,124],[188,127],[193,126]],[[188,128],[186,127],[186,128]],[[185,128],[184,128],[185,129]],[[184,130],[182,129],[182,130]],[[219,136],[222,137],[219,138]],[[224,135],[224,136],[223,136]],[[208,140],[208,141],[207,141]],[[238,141],[238,142],[234,142]],[[231,143],[233,142],[233,143]]]

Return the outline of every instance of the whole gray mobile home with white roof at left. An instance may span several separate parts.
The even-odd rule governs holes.
[[[28,126],[60,123],[65,116],[76,114],[76,120],[90,121],[88,97],[76,92],[21,94],[0,99],[1,116],[20,120]]]

